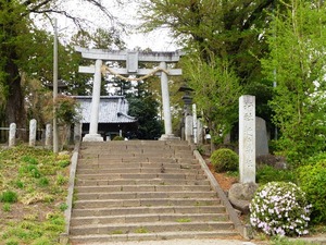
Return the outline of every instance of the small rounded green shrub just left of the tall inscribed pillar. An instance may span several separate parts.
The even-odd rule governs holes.
[[[216,172],[237,171],[239,168],[238,155],[227,148],[215,150],[211,156],[211,162]]]

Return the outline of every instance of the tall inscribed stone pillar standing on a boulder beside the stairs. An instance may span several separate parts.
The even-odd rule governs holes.
[[[255,97],[239,98],[240,183],[255,183]]]

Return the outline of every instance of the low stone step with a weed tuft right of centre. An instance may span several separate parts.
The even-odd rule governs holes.
[[[126,224],[143,222],[210,222],[210,221],[227,221],[226,213],[145,213],[145,215],[122,215],[122,216],[97,216],[97,217],[73,217],[72,226],[80,226],[87,224]]]

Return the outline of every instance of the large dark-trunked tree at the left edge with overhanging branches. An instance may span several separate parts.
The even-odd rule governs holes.
[[[60,9],[57,3],[55,0],[0,0],[0,88],[3,90],[7,123],[15,122],[17,127],[25,127],[26,121],[22,75],[32,60],[41,58],[37,56],[38,48],[51,47],[49,38],[38,42],[40,33],[33,25],[30,14],[58,13],[72,19],[78,26],[82,23],[82,19]],[[112,19],[100,1],[87,0],[85,3],[97,7]],[[47,45],[42,46],[45,42]]]

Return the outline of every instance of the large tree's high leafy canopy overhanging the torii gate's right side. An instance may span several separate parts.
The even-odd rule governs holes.
[[[241,84],[260,82],[259,59],[266,51],[261,32],[273,0],[151,0],[141,4],[142,29],[170,28],[179,45],[209,62],[213,52],[228,60]],[[180,11],[181,10],[181,11]]]

